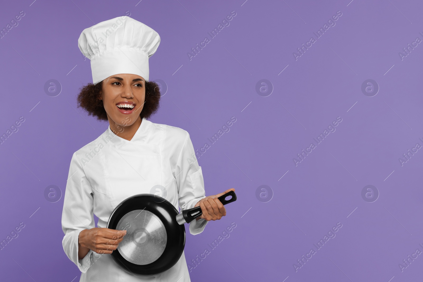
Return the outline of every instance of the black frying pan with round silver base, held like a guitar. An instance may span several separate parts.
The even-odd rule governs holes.
[[[226,200],[228,196],[231,198]],[[230,191],[218,199],[226,205],[236,201],[236,194]],[[140,275],[168,270],[184,251],[184,223],[190,223],[201,214],[200,206],[179,214],[168,200],[154,194],[137,194],[123,200],[107,222],[107,228],[126,230],[111,254],[113,260],[125,270]]]

